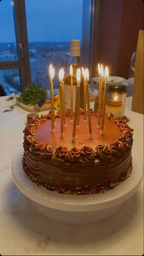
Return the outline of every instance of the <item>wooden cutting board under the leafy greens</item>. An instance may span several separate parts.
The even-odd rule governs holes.
[[[18,101],[17,101],[17,106],[19,106],[20,108],[23,108],[24,110],[31,112],[31,113],[34,113],[34,112],[37,113],[37,112],[46,111],[46,110],[51,109],[51,103],[43,104],[43,106],[41,106],[41,108],[38,110],[34,109],[34,105],[25,105]]]

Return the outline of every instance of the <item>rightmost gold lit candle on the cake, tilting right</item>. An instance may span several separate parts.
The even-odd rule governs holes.
[[[101,128],[100,128],[100,134],[103,135],[104,134],[104,115],[105,115],[105,111],[106,111],[106,97],[107,97],[107,84],[108,84],[108,79],[109,79],[109,68],[106,66],[105,70],[104,70],[104,99],[103,99],[103,115],[102,115],[102,119],[101,119]]]

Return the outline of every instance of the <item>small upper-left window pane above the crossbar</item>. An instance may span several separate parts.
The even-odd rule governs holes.
[[[0,62],[18,59],[12,0],[0,2]]]

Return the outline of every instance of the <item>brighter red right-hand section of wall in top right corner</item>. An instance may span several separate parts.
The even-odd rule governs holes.
[[[117,73],[124,78],[128,78],[131,56],[137,49],[139,30],[143,30],[143,10],[142,0],[123,0]]]

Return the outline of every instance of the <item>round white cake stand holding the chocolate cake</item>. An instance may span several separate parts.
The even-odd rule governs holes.
[[[117,213],[126,200],[139,188],[143,177],[142,163],[135,153],[132,155],[131,177],[103,194],[74,196],[59,194],[35,185],[24,174],[21,162],[23,152],[13,159],[13,181],[24,196],[29,199],[32,207],[50,219],[70,224],[97,222]]]

